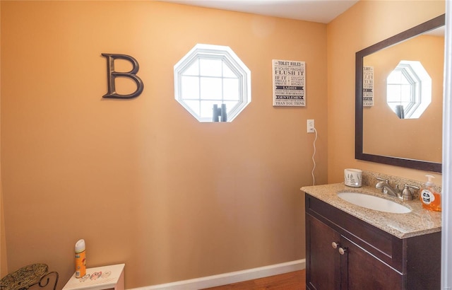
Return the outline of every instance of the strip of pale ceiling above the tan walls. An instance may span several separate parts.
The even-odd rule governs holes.
[[[329,23],[358,0],[160,0],[319,23]]]

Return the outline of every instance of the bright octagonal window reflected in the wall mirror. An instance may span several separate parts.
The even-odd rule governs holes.
[[[400,119],[417,119],[432,103],[432,78],[420,62],[403,60],[391,71],[386,103]]]

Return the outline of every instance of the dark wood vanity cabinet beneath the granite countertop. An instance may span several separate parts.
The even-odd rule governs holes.
[[[441,233],[400,239],[307,194],[306,245],[310,290],[440,289]]]

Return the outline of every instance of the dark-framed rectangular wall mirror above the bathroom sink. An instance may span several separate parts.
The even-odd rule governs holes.
[[[356,53],[355,158],[441,173],[444,19]]]

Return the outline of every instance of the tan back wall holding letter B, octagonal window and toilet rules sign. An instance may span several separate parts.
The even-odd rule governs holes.
[[[327,180],[326,25],[153,1],[1,1],[1,21],[10,271],[45,262],[62,287],[79,238],[88,267],[126,263],[126,288],[304,258],[307,119]],[[234,122],[174,100],[173,66],[198,42],[251,69]],[[142,95],[102,99],[102,52],[138,60]],[[271,59],[306,62],[307,107],[273,108]]]

